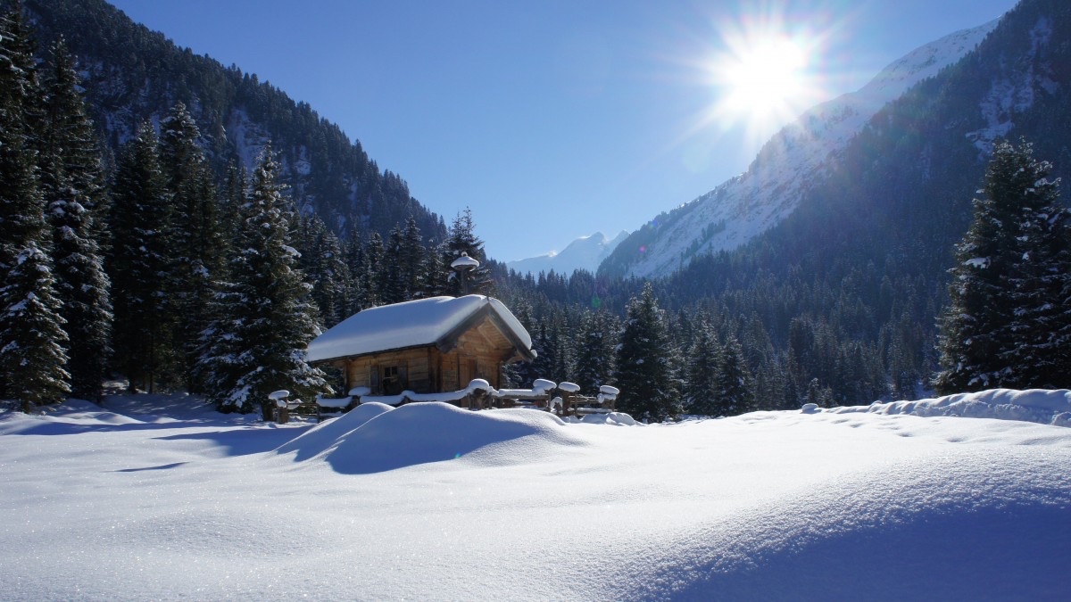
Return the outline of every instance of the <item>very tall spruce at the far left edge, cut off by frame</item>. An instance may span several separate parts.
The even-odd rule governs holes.
[[[71,390],[31,144],[39,95],[32,45],[16,4],[0,17],[0,393],[20,401],[24,411],[61,402]]]

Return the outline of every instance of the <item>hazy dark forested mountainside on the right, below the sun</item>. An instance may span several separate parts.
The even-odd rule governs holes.
[[[994,141],[1025,137],[1053,162],[1052,176],[1071,174],[1069,65],[1071,6],[1022,2],[965,60],[881,110],[781,224],[657,281],[685,400],[704,398],[700,387],[716,392],[697,376],[711,334],[715,349],[741,347],[743,407],[921,394],[938,370],[948,270]],[[584,359],[593,306],[621,316],[640,285],[586,273],[508,282],[504,295],[532,316],[541,358],[577,372],[598,364]],[[714,412],[739,411],[725,404]]]

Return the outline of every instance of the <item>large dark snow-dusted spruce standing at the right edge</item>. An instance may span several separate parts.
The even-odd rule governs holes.
[[[1025,141],[994,147],[950,270],[935,378],[941,393],[1068,382],[1056,334],[1067,319],[1068,238],[1051,169]]]

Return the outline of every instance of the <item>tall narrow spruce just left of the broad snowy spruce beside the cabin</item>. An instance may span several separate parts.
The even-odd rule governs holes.
[[[200,332],[208,325],[208,305],[221,276],[226,245],[220,231],[215,184],[205,152],[197,146],[200,132],[190,111],[177,103],[160,124],[161,167],[171,193],[174,258],[171,281],[179,323],[175,346],[182,351],[182,375],[192,391],[201,390],[194,377]]]

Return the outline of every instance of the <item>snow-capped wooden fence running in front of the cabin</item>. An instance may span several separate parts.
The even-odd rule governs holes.
[[[476,378],[459,391],[442,393],[417,393],[403,391],[397,395],[373,395],[367,387],[356,387],[345,397],[317,396],[312,402],[288,400],[289,391],[275,391],[268,395],[275,407],[275,422],[285,424],[290,420],[290,411],[302,416],[315,416],[317,422],[336,418],[362,403],[380,403],[397,406],[411,402],[444,402],[469,409],[493,407],[533,407],[552,411],[558,416],[582,416],[587,413],[609,413],[620,393],[615,387],[603,385],[595,396],[579,394],[580,387],[574,382],[553,382],[536,379],[531,389],[495,389],[486,380]],[[556,394],[557,393],[557,394]],[[270,420],[272,417],[265,417]]]

